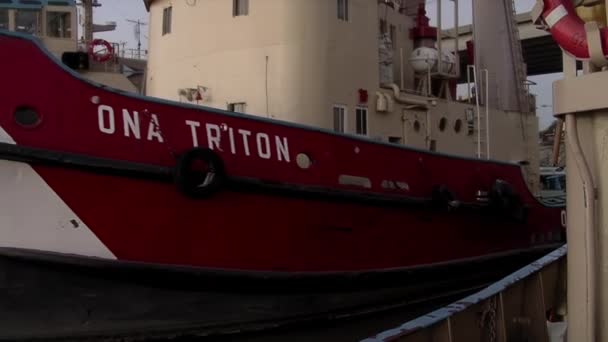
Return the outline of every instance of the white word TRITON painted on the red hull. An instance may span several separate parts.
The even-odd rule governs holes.
[[[231,154],[243,153],[250,157],[252,153],[261,159],[291,162],[289,155],[289,140],[286,137],[270,135],[264,132],[252,132],[246,129],[228,127],[226,124],[202,124],[198,121],[186,120],[190,128],[192,146],[201,146],[201,140],[211,150],[229,151]],[[201,139],[204,132],[207,139]]]

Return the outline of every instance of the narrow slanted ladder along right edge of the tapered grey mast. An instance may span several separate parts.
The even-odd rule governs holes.
[[[530,98],[528,94],[526,63],[521,48],[521,40],[519,28],[517,27],[517,11],[515,8],[515,0],[503,0],[505,5],[505,13],[512,13],[507,20],[507,25],[511,30],[509,37],[511,43],[511,53],[513,54],[513,68],[515,71],[515,80],[517,82],[517,100],[519,110],[522,113],[530,113]]]

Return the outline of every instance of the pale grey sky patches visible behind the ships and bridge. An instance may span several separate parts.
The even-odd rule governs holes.
[[[183,1],[183,0],[177,0]],[[445,28],[453,26],[453,16],[448,15],[449,11],[453,9],[452,2],[450,0],[427,0],[429,17],[433,24],[436,24],[436,12],[437,1],[442,1],[444,8],[444,15],[442,24]],[[488,1],[488,0],[482,0]],[[535,0],[516,0],[516,7],[518,12],[529,11],[534,5]],[[107,32],[97,34],[97,37],[104,38],[113,42],[127,42],[128,48],[137,47],[137,42],[134,37],[133,25],[127,22],[127,19],[131,20],[142,20],[148,22],[148,13],[143,5],[143,0],[100,0],[103,5],[100,8],[95,9],[95,22],[104,23],[106,21],[115,21],[118,25],[115,32]],[[460,24],[471,23],[471,1],[460,0]],[[142,46],[145,49],[147,47],[147,36],[148,27],[142,28]],[[544,128],[548,126],[552,117],[552,98],[551,98],[551,84],[554,80],[559,79],[561,74],[552,74],[544,76],[530,77],[530,80],[536,82],[537,85],[532,86],[531,90],[533,93],[538,95],[537,109],[538,115],[540,116],[540,126]]]

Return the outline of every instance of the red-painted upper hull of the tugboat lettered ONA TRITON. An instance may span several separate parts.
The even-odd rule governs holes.
[[[8,33],[0,33],[0,51],[5,68],[0,113],[27,106],[43,116],[35,128],[23,128],[13,115],[0,115],[0,128],[19,147],[173,168],[179,154],[198,144],[220,156],[231,178],[291,189],[231,186],[196,200],[164,180],[73,169],[62,161],[32,164],[119,260],[234,270],[364,271],[480,258],[555,243],[562,235],[561,208],[538,202],[515,164],[120,94],[76,78],[33,41]],[[313,160],[310,169],[298,167],[300,153]],[[11,158],[20,159],[15,155]],[[343,175],[368,180],[370,186],[341,185]],[[428,200],[441,185],[460,202],[473,204],[478,191],[490,191],[497,180],[519,194],[529,212],[525,222],[500,219],[473,205],[446,211],[399,202]],[[387,181],[406,186],[386,189]],[[305,196],[307,189],[327,196]],[[72,253],[69,248],[56,252]]]

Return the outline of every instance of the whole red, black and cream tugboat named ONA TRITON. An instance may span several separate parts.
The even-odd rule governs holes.
[[[3,334],[273,326],[558,246],[516,37],[501,74],[483,41],[499,28],[478,26],[457,101],[459,58],[423,2],[349,2],[147,1],[149,96],[83,77],[106,42],[46,48],[52,32],[73,47],[55,20],[73,2],[29,9],[34,35],[0,4]]]

